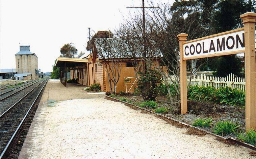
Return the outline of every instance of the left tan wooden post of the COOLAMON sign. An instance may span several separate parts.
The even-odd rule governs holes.
[[[187,34],[177,35],[180,47],[180,109],[181,114],[187,114],[187,61],[183,60],[183,42],[187,40]]]

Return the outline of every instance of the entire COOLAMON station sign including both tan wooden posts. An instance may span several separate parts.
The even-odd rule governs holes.
[[[181,114],[187,113],[186,60],[236,53],[245,53],[246,79],[246,130],[256,130],[256,65],[255,22],[256,13],[240,15],[244,28],[187,40],[187,34],[177,35],[180,47],[180,98]]]

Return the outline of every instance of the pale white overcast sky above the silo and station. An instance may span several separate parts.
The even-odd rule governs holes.
[[[142,0],[133,1],[134,6],[142,4]],[[173,0],[162,0],[168,1]],[[122,14],[141,13],[126,8],[131,5],[132,0],[1,0],[0,67],[16,68],[19,45],[29,44],[39,69],[51,72],[64,44],[72,42],[78,53],[85,51],[88,27],[95,32],[117,28]]]

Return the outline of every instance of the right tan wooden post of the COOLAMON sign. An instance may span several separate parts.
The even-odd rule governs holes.
[[[255,22],[256,13],[240,15],[245,28],[245,128],[256,130],[256,65],[255,65]]]

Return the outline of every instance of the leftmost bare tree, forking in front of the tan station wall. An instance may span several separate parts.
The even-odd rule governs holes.
[[[124,58],[125,46],[123,40],[118,37],[95,38],[95,47],[107,72],[110,93],[115,94]]]

